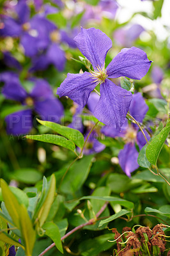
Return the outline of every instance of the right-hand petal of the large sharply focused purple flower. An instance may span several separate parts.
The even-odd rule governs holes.
[[[126,76],[141,79],[146,75],[151,65],[144,51],[139,48],[123,48],[106,68],[109,78]]]

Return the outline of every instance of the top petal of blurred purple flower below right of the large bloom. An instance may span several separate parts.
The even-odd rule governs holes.
[[[135,93],[132,96],[132,101],[130,103],[130,115],[132,115],[135,118],[135,120],[142,123],[144,116],[148,112],[148,109],[148,105],[146,105],[146,102],[144,101],[141,93]]]

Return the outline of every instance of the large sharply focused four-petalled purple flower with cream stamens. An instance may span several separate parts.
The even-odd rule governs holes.
[[[112,47],[112,41],[99,29],[83,29],[74,38],[77,47],[93,65],[94,71],[84,74],[69,74],[58,88],[58,95],[68,96],[82,108],[88,102],[90,93],[98,84],[100,99],[94,115],[106,125],[121,129],[132,100],[132,93],[116,86],[109,78],[127,76],[141,79],[148,72],[151,61],[141,49],[122,49],[105,69],[105,56]]]

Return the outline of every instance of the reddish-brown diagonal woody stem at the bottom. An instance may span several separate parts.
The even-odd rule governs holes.
[[[61,241],[63,241],[64,239],[66,239],[66,237],[72,235],[75,231],[77,231],[77,230],[79,230],[79,229],[81,229],[81,228],[83,228],[83,227],[86,227],[86,226],[88,226],[88,225],[93,225],[93,224],[96,222],[98,216],[100,216],[100,214],[102,214],[102,212],[104,212],[105,208],[107,207],[107,204],[108,204],[108,202],[105,202],[105,204],[102,206],[102,208],[100,209],[100,211],[97,212],[96,218],[93,218],[93,219],[89,220],[88,222],[86,222],[86,223],[84,223],[84,224],[81,224],[81,225],[79,225],[79,226],[73,228],[70,232],[68,232],[67,234],[65,234],[65,236],[61,237]],[[55,246],[55,243],[50,244],[50,246],[47,247],[47,248],[46,248],[42,253],[40,253],[40,255],[38,255],[38,256],[43,256],[46,252],[48,252],[48,251],[49,251],[52,247],[54,247],[54,246]]]

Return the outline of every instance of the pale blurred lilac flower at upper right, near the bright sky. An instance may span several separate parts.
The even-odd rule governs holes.
[[[120,28],[114,32],[114,40],[117,45],[130,47],[143,31],[144,28],[138,24],[134,24],[128,29]]]

